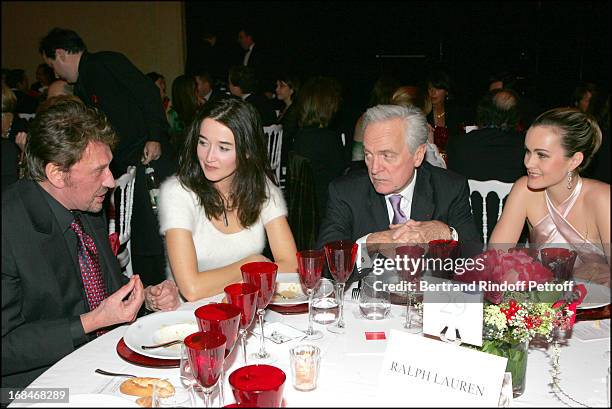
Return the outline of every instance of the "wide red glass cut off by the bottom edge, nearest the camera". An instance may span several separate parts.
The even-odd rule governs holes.
[[[236,369],[229,382],[236,403],[250,408],[280,408],[287,375],[271,365],[247,365]]]

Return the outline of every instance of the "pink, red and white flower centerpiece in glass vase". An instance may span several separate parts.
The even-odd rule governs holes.
[[[463,282],[487,281],[501,284],[545,283],[553,273],[525,252],[505,253],[487,250],[476,256],[479,270],[471,269],[455,279]],[[521,286],[518,286],[521,288]],[[528,284],[522,286],[529,288]],[[576,307],[586,295],[584,285],[562,293],[550,291],[486,291],[483,311],[483,345],[481,351],[508,358],[506,371],[512,374],[514,395],[525,389],[527,346],[537,335],[548,341],[555,328],[570,329],[575,321]]]

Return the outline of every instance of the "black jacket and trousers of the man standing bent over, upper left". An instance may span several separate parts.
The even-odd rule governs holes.
[[[157,216],[151,209],[144,169],[140,165],[145,143],[161,143],[162,156],[151,162],[160,182],[176,170],[176,161],[170,154],[168,121],[159,89],[123,54],[102,51],[83,53],[74,92],[87,105],[102,110],[119,136],[111,162],[115,178],[123,175],[128,166],[138,166],[131,243],[131,255],[136,257],[132,257],[132,261],[134,271],[143,275],[145,282],[159,282],[163,268],[151,268],[139,261],[139,256],[163,258],[164,254]]]

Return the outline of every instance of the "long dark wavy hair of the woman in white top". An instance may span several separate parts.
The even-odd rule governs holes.
[[[205,104],[187,130],[179,158],[178,179],[183,187],[198,196],[209,219],[221,217],[224,203],[213,182],[206,179],[198,160],[200,127],[206,118],[227,126],[234,134],[236,172],[228,202],[230,210],[238,210],[240,224],[248,228],[257,221],[268,198],[266,178],[275,180],[264,146],[261,119],[251,104],[236,98],[223,98]]]

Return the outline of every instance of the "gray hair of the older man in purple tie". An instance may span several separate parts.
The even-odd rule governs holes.
[[[427,142],[427,118],[423,112],[414,106],[376,105],[369,108],[363,116],[363,129],[373,122],[383,122],[400,118],[404,120],[404,133],[406,145],[410,153],[414,154],[417,148]]]

